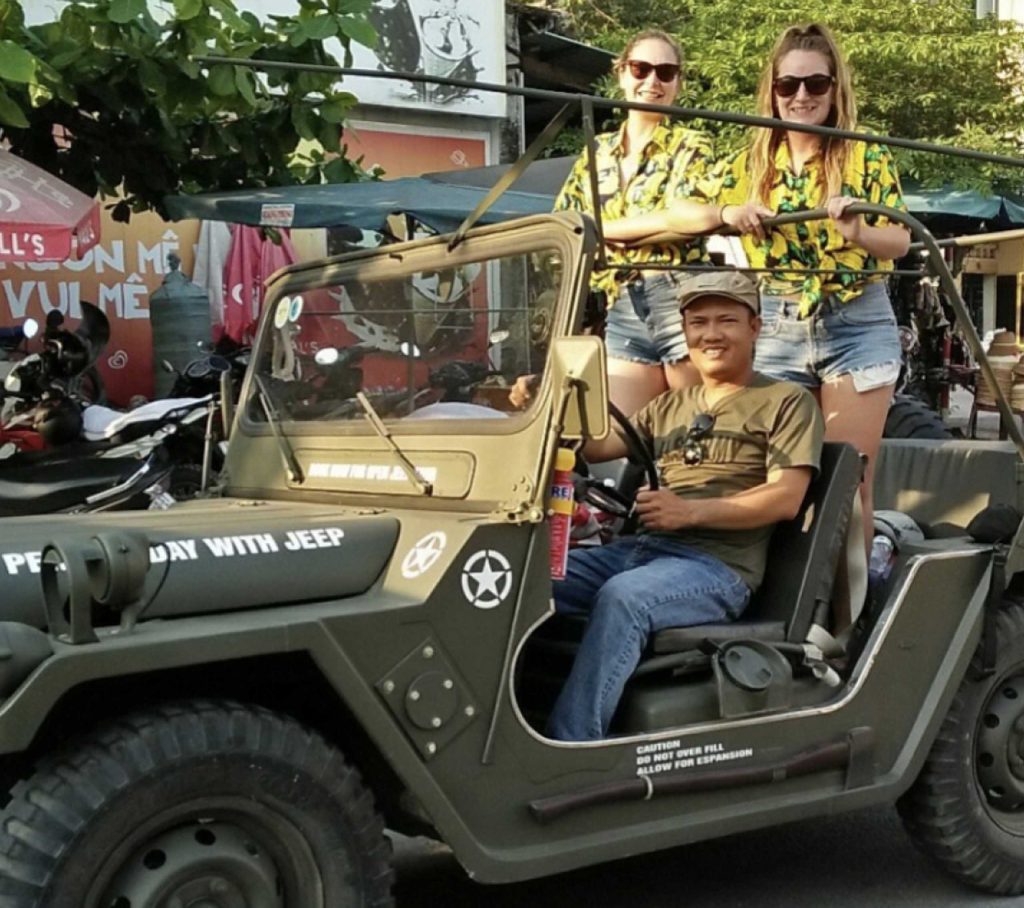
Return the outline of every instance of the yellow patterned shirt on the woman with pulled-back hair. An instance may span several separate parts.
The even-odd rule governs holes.
[[[666,119],[655,127],[636,173],[623,186],[620,165],[625,154],[625,128],[624,125],[617,132],[597,136],[597,189],[603,220],[667,208],[674,200],[691,196],[697,182],[708,176],[712,161],[711,140],[700,132]],[[588,157],[585,149],[577,160],[555,199],[555,211],[593,213]],[[626,276],[648,263],[681,265],[708,261],[707,242],[701,237],[676,244],[609,246],[607,260],[608,269],[595,270],[591,287],[613,298]]]

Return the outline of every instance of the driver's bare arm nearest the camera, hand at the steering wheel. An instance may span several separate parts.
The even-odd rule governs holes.
[[[755,529],[792,520],[800,512],[813,470],[774,470],[760,485],[724,499],[683,499],[668,489],[637,494],[637,513],[647,529]]]

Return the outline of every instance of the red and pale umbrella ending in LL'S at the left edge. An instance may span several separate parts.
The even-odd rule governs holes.
[[[0,149],[0,262],[81,258],[98,240],[94,199]]]

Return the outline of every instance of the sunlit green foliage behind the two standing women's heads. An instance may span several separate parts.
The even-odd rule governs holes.
[[[1024,158],[1021,28],[977,19],[971,2],[559,0],[557,6],[581,40],[613,51],[643,29],[675,35],[686,58],[681,102],[742,113],[755,112],[762,68],[781,32],[798,23],[824,23],[853,70],[862,127]],[[721,152],[750,138],[741,127],[692,125],[714,133]],[[1010,169],[948,156],[898,153],[898,161],[901,169],[912,167],[939,182],[992,188],[1005,186],[1009,175],[1024,188],[1024,169],[1014,177]]]

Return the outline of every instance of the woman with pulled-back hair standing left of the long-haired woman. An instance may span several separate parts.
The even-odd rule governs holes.
[[[623,96],[656,106],[674,103],[680,89],[682,51],[669,35],[634,36],[614,63]],[[556,210],[593,213],[585,152],[555,201]],[[597,136],[597,181],[604,222],[664,210],[692,194],[707,176],[707,136],[674,123],[658,111],[630,110],[614,132]],[[696,384],[686,362],[679,315],[682,276],[651,265],[707,260],[705,240],[609,247],[608,269],[595,270],[592,290],[607,295],[604,341],[612,401],[627,415],[669,388]]]

